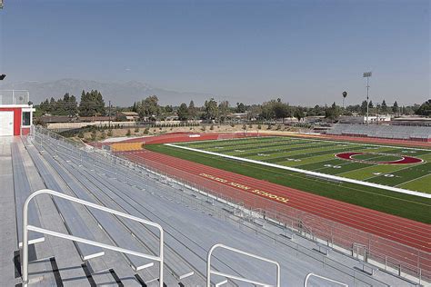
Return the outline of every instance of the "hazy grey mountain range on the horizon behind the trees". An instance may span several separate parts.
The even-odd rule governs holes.
[[[65,93],[74,94],[79,100],[82,90],[100,91],[105,99],[105,103],[112,101],[113,105],[128,106],[134,102],[141,101],[148,95],[155,94],[159,99],[159,104],[179,105],[188,104],[191,100],[195,104],[203,104],[205,99],[214,95],[195,92],[177,92],[163,88],[152,87],[137,81],[125,83],[103,83],[97,81],[80,80],[80,79],[61,79],[51,82],[20,82],[20,83],[3,83],[0,85],[1,90],[28,90],[30,100],[39,104],[45,99],[54,97],[58,99]]]

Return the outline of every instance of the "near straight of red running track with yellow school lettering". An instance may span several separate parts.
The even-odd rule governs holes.
[[[431,272],[431,225],[426,223],[418,223],[395,215],[381,213],[370,210],[364,207],[356,206],[349,203],[342,203],[336,200],[328,199],[312,193],[302,192],[293,188],[268,183],[266,181],[257,180],[245,175],[230,173],[224,170],[216,169],[200,163],[192,163],[172,156],[149,151],[129,152],[124,153],[125,156],[132,160],[142,160],[143,163],[152,165],[164,164],[170,167],[165,169],[166,173],[179,176],[175,171],[183,171],[193,174],[193,179],[199,180],[202,178],[201,173],[211,174],[218,179],[226,180],[226,183],[221,183],[219,180],[216,184],[224,184],[229,188],[235,188],[237,196],[241,196],[245,201],[249,197],[256,197],[256,193],[244,190],[240,186],[232,186],[230,183],[240,183],[252,189],[270,192],[277,196],[287,198],[287,203],[276,202],[278,205],[286,204],[288,208],[295,208],[306,213],[314,214],[318,217],[327,220],[341,223],[346,228],[334,230],[340,238],[346,238],[346,242],[362,242],[368,246],[372,246],[372,251],[378,254],[386,254],[389,257],[395,258],[399,262],[405,262],[410,266],[420,266],[424,271]],[[184,176],[184,173],[182,174]],[[206,184],[209,189],[214,188],[215,181],[208,180],[200,181],[199,184]],[[220,190],[222,192],[222,190]],[[229,194],[230,196],[232,194]],[[265,207],[269,203],[267,197],[261,197],[260,207]],[[255,206],[258,207],[258,206]],[[274,208],[273,205],[266,207]],[[309,223],[313,224],[313,222]],[[341,226],[341,225],[340,225]],[[348,227],[352,230],[348,230]],[[316,226],[318,227],[318,226]],[[363,233],[352,233],[353,230],[371,233],[375,237],[360,237]],[[334,232],[333,231],[333,232]],[[369,242],[370,238],[373,242]],[[371,244],[371,245],[370,245]],[[410,248],[412,247],[412,248]]]

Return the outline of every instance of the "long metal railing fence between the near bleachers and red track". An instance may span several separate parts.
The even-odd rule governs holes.
[[[296,210],[286,205],[266,201],[265,199],[258,198],[257,196],[250,195],[247,197],[246,200],[244,197],[238,198],[238,193],[236,192],[236,190],[229,188],[228,186],[224,186],[220,183],[215,183],[213,181],[199,177],[195,174],[177,170],[173,167],[164,165],[163,163],[155,163],[148,159],[135,157],[133,156],[133,154],[128,154],[129,156],[127,156],[127,158],[122,158],[118,157],[116,154],[113,153],[106,153],[106,151],[94,153],[88,151],[88,149],[86,149],[85,145],[82,143],[70,141],[61,135],[49,132],[41,127],[36,127],[35,129],[33,129],[32,136],[35,137],[33,143],[41,146],[42,148],[45,144],[49,144],[52,146],[53,150],[55,150],[55,153],[61,151],[62,149],[65,149],[64,152],[67,153],[67,156],[75,157],[75,159],[79,158],[81,162],[84,159],[84,163],[86,161],[87,163],[92,164],[96,169],[100,168],[101,170],[103,170],[103,167],[107,167],[107,165],[104,164],[112,164],[113,166],[115,166],[115,178],[121,180],[121,178],[123,177],[125,179],[125,182],[128,182],[129,184],[142,183],[137,183],[133,179],[133,176],[130,176],[131,173],[129,175],[127,175],[127,173],[129,172],[122,173],[121,169],[118,168],[119,166],[123,166],[123,168],[131,168],[136,174],[153,174],[153,176],[155,176],[155,179],[158,178],[160,182],[165,182],[168,184],[178,184],[179,194],[175,195],[172,193],[165,193],[164,196],[176,196],[178,202],[189,202],[195,204],[193,208],[211,208],[213,210],[212,212],[215,211],[214,204],[209,207],[209,204],[198,204],[197,201],[193,202],[191,198],[187,199],[187,196],[191,195],[188,194],[190,192],[194,192],[195,194],[201,194],[201,201],[203,200],[203,196],[205,196],[206,194],[206,200],[209,199],[211,201],[216,201],[219,203],[226,203],[226,206],[236,206],[235,208],[238,208],[239,206],[239,209],[241,210],[248,209],[249,211],[258,211],[261,215],[263,215],[264,219],[269,220],[272,223],[280,224],[280,226],[283,226],[286,230],[288,229],[294,233],[301,233],[301,230],[304,232],[301,226],[304,227],[307,225],[307,228],[313,233],[314,240],[317,240],[319,242],[325,241],[328,247],[336,249],[339,252],[346,253],[346,255],[348,256],[352,256],[353,242],[364,242],[366,243],[366,247],[368,247],[366,259],[371,260],[368,262],[376,264],[376,266],[381,268],[381,270],[385,270],[386,272],[390,272],[402,277],[406,275],[414,276],[416,277],[416,279],[410,277],[411,280],[418,281],[419,283],[423,280],[429,281],[431,279],[431,273],[428,272],[428,268],[426,268],[430,254],[427,252],[419,251],[416,248],[406,246],[399,242],[393,242],[391,240],[384,239],[371,233],[359,231],[351,227],[347,227],[344,224],[335,223],[327,219],[320,218],[316,215]],[[122,156],[122,154],[119,155]],[[132,157],[130,157],[130,155],[132,155]],[[97,161],[95,160],[95,156],[98,157],[97,161],[100,161],[100,164],[96,163]],[[147,181],[145,185],[147,190]],[[159,192],[162,193],[162,191]],[[211,211],[208,210],[208,212]],[[226,214],[219,214],[219,216],[220,218],[227,218]],[[227,220],[231,219],[227,218]],[[237,223],[239,224],[238,226],[246,226],[240,220]],[[246,226],[246,228],[248,227]],[[266,233],[266,231],[256,230],[256,233],[264,234]],[[272,238],[274,242],[281,242],[283,244],[286,243],[285,238],[281,238],[280,236],[276,236],[274,234],[266,234],[265,236],[269,236],[268,238]],[[373,242],[378,242],[379,246],[374,246]],[[287,247],[294,248],[297,252],[304,253],[306,254],[306,256],[311,255],[308,254],[306,248],[301,246],[300,244],[295,243],[294,245],[295,246]],[[400,254],[404,253],[408,254],[408,256],[412,258],[399,257]],[[396,255],[396,257],[392,257],[392,254]],[[314,258],[316,256],[313,255],[312,257]],[[323,262],[326,266],[329,266],[328,264],[335,264],[331,267],[335,268],[338,271],[345,272],[349,276],[353,276],[353,278],[356,280],[360,280],[356,278],[356,275],[359,275],[360,272],[355,272],[356,275],[350,274],[351,272],[345,270],[344,265],[332,262],[324,256],[318,259],[318,261]]]

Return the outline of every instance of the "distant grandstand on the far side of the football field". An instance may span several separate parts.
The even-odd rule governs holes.
[[[429,126],[335,124],[326,134],[431,142]]]

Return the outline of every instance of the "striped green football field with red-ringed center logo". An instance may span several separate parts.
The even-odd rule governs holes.
[[[431,150],[422,148],[281,136],[175,143],[173,146],[264,165],[270,163],[281,169],[290,167],[293,171],[323,173],[328,175],[328,180],[346,178],[431,193]]]

